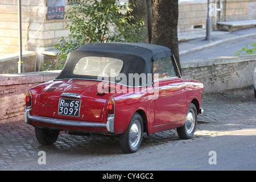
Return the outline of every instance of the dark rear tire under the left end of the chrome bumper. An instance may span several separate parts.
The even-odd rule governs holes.
[[[49,145],[56,142],[57,138],[59,137],[59,133],[59,130],[35,127],[36,139],[38,139],[38,142],[42,145]]]

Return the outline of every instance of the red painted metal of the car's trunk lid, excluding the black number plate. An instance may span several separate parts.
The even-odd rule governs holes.
[[[63,93],[80,94],[82,105],[78,118],[85,121],[103,121],[103,111],[108,96],[101,97],[97,95],[98,81],[72,80],[68,82],[56,81],[48,85],[40,94],[39,115],[53,117],[53,113],[58,113],[59,99]],[[90,114],[93,113],[93,114]],[[82,115],[84,115],[83,118]],[[69,119],[63,115],[55,115],[57,118]]]

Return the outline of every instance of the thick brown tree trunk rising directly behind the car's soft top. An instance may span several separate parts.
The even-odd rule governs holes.
[[[152,0],[152,17],[151,44],[170,48],[181,73],[177,38],[178,0]]]

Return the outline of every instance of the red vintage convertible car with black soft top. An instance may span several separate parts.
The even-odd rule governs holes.
[[[118,135],[121,150],[131,153],[143,133],[177,128],[181,139],[191,138],[203,89],[181,78],[167,47],[86,44],[69,53],[54,80],[28,90],[24,118],[40,144],[53,144],[60,131]]]

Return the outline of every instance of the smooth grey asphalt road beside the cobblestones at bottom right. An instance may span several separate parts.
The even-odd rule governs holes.
[[[237,130],[219,137],[164,148],[144,156],[129,155],[122,158],[122,163],[113,160],[89,169],[255,171],[255,134],[256,129]],[[210,151],[216,153],[213,155]]]

